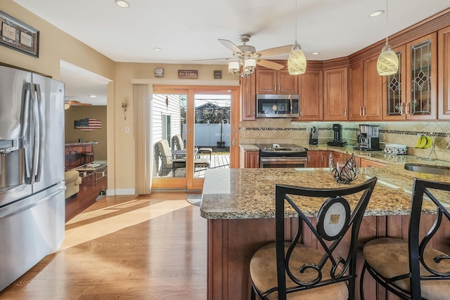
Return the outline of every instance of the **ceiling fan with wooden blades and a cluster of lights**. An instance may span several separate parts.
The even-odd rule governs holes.
[[[221,44],[223,44],[224,46],[226,46],[226,48],[229,48],[231,51],[233,51],[233,58],[212,58],[205,60],[233,60],[233,59],[238,60],[237,66],[239,67],[239,69],[236,70],[236,62],[232,62],[229,63],[229,71],[233,74],[238,74],[240,66],[243,66],[243,73],[241,74],[242,76],[248,76],[249,74],[251,74],[255,69],[255,64],[273,70],[283,69],[284,65],[275,63],[270,60],[263,60],[261,58],[269,56],[278,56],[281,54],[289,53],[293,45],[279,46],[275,48],[265,49],[262,51],[256,51],[256,48],[254,46],[246,44],[248,41],[250,41],[250,37],[251,37],[250,34],[240,34],[239,40],[243,43],[240,46],[236,46],[235,44],[233,44],[232,41],[229,41],[228,39],[218,39],[219,42],[221,42]],[[201,60],[194,60],[194,61],[201,61]]]

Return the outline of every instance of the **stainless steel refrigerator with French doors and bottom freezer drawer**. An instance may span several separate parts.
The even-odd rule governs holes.
[[[64,84],[0,66],[0,290],[64,238]]]

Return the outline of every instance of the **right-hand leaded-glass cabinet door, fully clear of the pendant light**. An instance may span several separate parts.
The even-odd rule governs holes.
[[[437,34],[406,44],[406,119],[436,119]]]

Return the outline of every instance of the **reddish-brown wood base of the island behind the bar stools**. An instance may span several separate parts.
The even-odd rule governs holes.
[[[434,218],[434,215],[427,215],[423,216],[422,221],[429,228]],[[286,222],[286,225],[289,225],[289,219]],[[359,232],[358,274],[361,274],[364,262],[362,255],[364,243],[383,236],[407,239],[408,227],[409,216],[364,216]],[[424,230],[423,234],[425,231],[428,230]],[[449,236],[450,224],[446,224],[444,232],[432,240],[432,246],[449,252]],[[311,235],[304,235],[302,238],[302,244],[317,247],[316,240]],[[257,249],[274,240],[275,219],[208,220],[207,299],[250,299],[250,259]],[[364,277],[364,293],[366,300],[399,299],[387,294],[385,289],[376,285],[375,280],[367,273]],[[356,282],[355,296],[355,299],[360,299],[359,278]]]

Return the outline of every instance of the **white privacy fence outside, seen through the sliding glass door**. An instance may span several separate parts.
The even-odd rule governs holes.
[[[183,139],[186,140],[186,126],[183,126]],[[195,124],[195,142],[199,146],[216,146],[220,141],[220,124]],[[222,141],[230,145],[230,124],[222,125]]]

